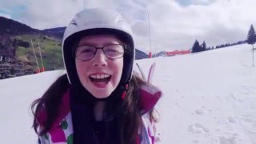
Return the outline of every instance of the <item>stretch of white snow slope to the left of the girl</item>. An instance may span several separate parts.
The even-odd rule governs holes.
[[[42,96],[63,70],[8,78],[0,81],[1,143],[27,143],[37,140],[31,129],[31,103]]]

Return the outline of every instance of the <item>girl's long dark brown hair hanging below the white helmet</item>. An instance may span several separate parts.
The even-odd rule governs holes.
[[[122,111],[126,114],[122,114],[120,117],[118,117],[118,121],[120,122],[118,129],[121,132],[119,137],[122,143],[135,143],[138,128],[142,125],[139,106],[141,99],[138,89],[143,83],[145,82],[142,80],[142,78],[139,78],[136,74],[133,74],[127,90],[126,98],[123,99]],[[68,78],[66,74],[64,74],[59,77],[48,90],[46,90],[46,93],[42,95],[42,98],[38,98],[32,103],[31,110],[34,114],[33,127],[37,134],[46,134],[50,130],[58,115],[58,108],[61,106],[62,96],[69,86],[70,83]],[[47,118],[46,122],[44,122],[43,126],[41,126],[42,130],[39,131],[39,123],[37,118],[40,110],[42,109],[46,110]],[[150,118],[153,121],[155,120],[152,110],[150,111]]]

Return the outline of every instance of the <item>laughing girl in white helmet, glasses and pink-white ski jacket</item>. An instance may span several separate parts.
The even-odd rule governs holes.
[[[76,14],[62,51],[66,74],[31,107],[38,143],[156,143],[153,111],[162,92],[133,74],[134,38],[121,14]]]

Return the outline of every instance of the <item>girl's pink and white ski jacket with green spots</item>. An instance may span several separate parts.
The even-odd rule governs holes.
[[[38,144],[73,144],[73,124],[70,112],[70,90],[62,97],[62,109],[58,114],[58,118],[54,122],[50,131],[42,136],[39,136]],[[157,87],[149,83],[140,86],[139,93],[141,95],[141,113],[142,127],[138,130],[137,144],[156,144],[160,139],[156,135],[154,122],[150,121],[150,110],[161,98],[162,92]],[[38,115],[38,123],[46,120],[46,112],[41,111]]]

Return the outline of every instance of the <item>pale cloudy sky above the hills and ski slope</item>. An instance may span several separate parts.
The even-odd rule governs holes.
[[[87,8],[109,7],[130,22],[139,50],[187,50],[245,40],[255,0],[0,0],[0,15],[40,30],[67,26]],[[150,27],[150,30],[149,30]]]

